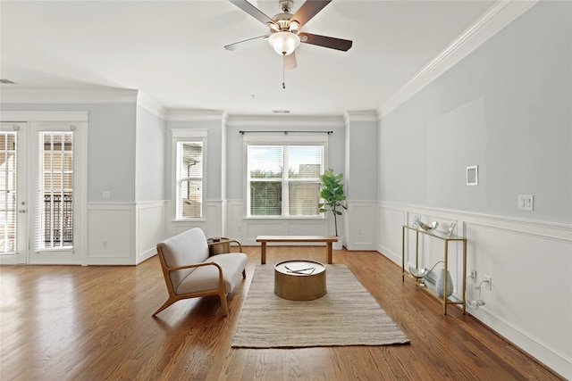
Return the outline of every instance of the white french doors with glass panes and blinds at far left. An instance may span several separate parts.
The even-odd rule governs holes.
[[[0,263],[84,263],[86,129],[1,123]]]

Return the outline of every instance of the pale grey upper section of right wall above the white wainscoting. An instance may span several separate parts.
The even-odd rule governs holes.
[[[380,200],[572,222],[570,7],[540,2],[383,118]]]

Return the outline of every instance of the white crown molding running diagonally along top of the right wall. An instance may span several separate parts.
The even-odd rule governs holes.
[[[395,94],[377,109],[380,118],[405,103],[416,95],[433,80],[439,78],[447,70],[472,53],[477,47],[484,44],[501,29],[517,19],[522,13],[528,11],[540,0],[507,0],[498,1],[484,13],[483,17],[475,21],[463,34],[457,37],[441,54],[419,71],[415,77],[401,87]]]

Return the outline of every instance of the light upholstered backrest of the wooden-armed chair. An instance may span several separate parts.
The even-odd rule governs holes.
[[[206,236],[200,228],[192,228],[177,236],[172,236],[157,244],[161,247],[164,261],[168,267],[186,266],[200,263],[208,258],[208,244]],[[171,284],[173,290],[181,284],[195,269],[180,269],[171,271]]]

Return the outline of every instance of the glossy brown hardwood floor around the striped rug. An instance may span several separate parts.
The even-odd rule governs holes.
[[[389,346],[232,349],[260,248],[245,246],[247,279],[229,295],[167,298],[156,257],[136,267],[0,268],[2,380],[511,380],[563,379],[469,315],[441,305],[375,252],[334,252],[411,339]],[[323,247],[269,246],[265,266],[325,261]],[[272,286],[272,285],[269,285]]]

